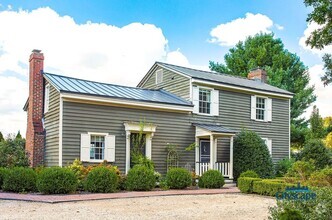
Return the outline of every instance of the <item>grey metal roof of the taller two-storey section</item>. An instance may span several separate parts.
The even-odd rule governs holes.
[[[193,77],[196,79],[203,79],[203,80],[217,82],[217,83],[219,82],[219,83],[235,85],[235,86],[240,86],[240,87],[245,87],[245,88],[250,88],[250,89],[275,92],[275,93],[280,93],[280,94],[285,94],[285,95],[293,95],[293,93],[291,93],[287,90],[280,89],[278,87],[271,86],[269,84],[266,84],[266,83],[263,83],[260,81],[249,80],[244,77],[233,76],[233,75],[217,73],[217,72],[209,72],[209,71],[191,69],[191,68],[187,68],[187,67],[176,66],[176,65],[162,63],[162,62],[156,62],[156,64],[158,64],[162,67],[165,67],[165,68],[172,69],[174,71],[180,72],[182,74],[185,74],[187,76],[190,76],[190,77]]]

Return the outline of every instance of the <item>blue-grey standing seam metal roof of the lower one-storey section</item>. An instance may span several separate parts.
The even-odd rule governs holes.
[[[137,87],[93,82],[51,73],[44,73],[44,77],[60,92],[192,106],[191,102],[165,90],[142,89]]]

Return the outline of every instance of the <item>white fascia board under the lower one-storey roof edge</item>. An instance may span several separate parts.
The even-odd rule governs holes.
[[[182,111],[182,112],[192,112],[192,106],[178,106],[172,104],[164,104],[164,103],[150,103],[150,102],[140,102],[134,100],[123,100],[123,99],[115,99],[108,97],[99,97],[99,96],[90,96],[90,95],[82,95],[82,94],[73,94],[73,93],[62,93],[62,97],[64,101],[76,100],[78,102],[86,103],[86,102],[100,102],[100,103],[109,103],[116,104],[121,106],[135,106],[135,107],[144,107],[150,109],[161,109],[164,111]]]

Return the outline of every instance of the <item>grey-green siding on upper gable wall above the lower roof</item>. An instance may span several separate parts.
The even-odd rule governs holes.
[[[141,87],[146,89],[164,89],[174,95],[189,100],[190,79],[167,69],[163,69],[163,82],[156,85],[156,71],[159,69],[163,68],[157,68]]]

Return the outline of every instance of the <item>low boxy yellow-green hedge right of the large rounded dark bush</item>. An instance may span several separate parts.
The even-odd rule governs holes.
[[[287,186],[294,186],[294,184],[283,183],[280,180],[265,179],[253,182],[252,191],[260,195],[276,196],[277,192],[284,191]]]

